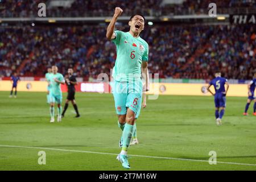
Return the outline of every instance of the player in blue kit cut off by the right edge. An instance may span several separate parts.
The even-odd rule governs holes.
[[[249,109],[251,101],[253,100],[254,100],[253,115],[256,115],[256,97],[254,96],[255,85],[256,85],[256,73],[254,73],[254,79],[251,80],[248,84],[248,99],[247,99],[247,104],[245,106],[245,112],[243,113],[243,115],[248,115],[247,110]]]

